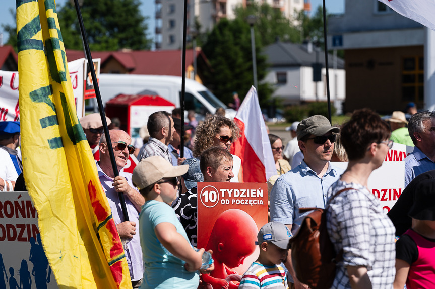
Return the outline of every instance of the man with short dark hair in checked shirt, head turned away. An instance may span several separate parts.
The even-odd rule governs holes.
[[[172,141],[175,128],[174,121],[168,112],[159,111],[150,115],[147,122],[150,138],[139,152],[139,160],[158,155],[172,163],[168,145]]]

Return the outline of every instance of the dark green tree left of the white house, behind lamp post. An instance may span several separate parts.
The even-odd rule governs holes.
[[[256,39],[260,35],[256,33]],[[239,18],[221,19],[207,36],[203,51],[210,61],[212,72],[205,75],[205,84],[224,102],[232,102],[232,92],[243,99],[253,85],[250,26]],[[273,89],[262,83],[266,76],[266,57],[261,54],[261,44],[256,42],[258,94],[260,105],[266,105]]]

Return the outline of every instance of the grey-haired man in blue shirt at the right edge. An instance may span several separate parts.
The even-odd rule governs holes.
[[[435,169],[435,112],[414,114],[408,123],[415,147],[405,159],[405,187],[417,175]]]

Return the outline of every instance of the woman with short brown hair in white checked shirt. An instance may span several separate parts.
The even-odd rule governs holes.
[[[341,129],[349,164],[328,191],[327,229],[335,251],[343,252],[332,288],[392,288],[395,228],[367,188],[393,145],[388,124],[378,114],[357,110]]]

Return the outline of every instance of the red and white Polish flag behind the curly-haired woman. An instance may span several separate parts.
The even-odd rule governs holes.
[[[241,159],[243,182],[266,182],[276,174],[272,149],[254,86],[247,92],[237,114],[235,123],[240,128],[241,138],[230,152]]]

